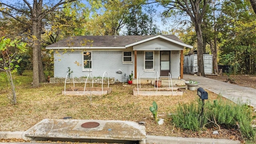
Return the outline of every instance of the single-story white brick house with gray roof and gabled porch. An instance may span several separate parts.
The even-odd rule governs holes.
[[[174,35],[72,36],[47,46],[54,51],[54,77],[102,77],[122,82],[133,78],[183,77],[183,50],[193,48]],[[138,76],[139,74],[139,76]],[[106,75],[105,75],[106,76]],[[127,78],[127,77],[126,77]]]

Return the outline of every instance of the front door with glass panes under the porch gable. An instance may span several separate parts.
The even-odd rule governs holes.
[[[170,72],[170,51],[160,51],[160,76],[168,76]]]

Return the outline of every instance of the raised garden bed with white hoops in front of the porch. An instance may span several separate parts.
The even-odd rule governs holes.
[[[134,88],[133,89],[133,95],[134,96],[172,96],[172,88],[169,87],[163,87],[158,88],[156,91],[156,88]],[[180,87],[173,87],[173,96],[182,96],[183,91]]]

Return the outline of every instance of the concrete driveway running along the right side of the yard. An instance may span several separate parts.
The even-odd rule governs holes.
[[[187,81],[196,80],[200,82],[199,86],[205,90],[209,90],[215,94],[220,94],[224,98],[228,98],[235,103],[237,100],[240,100],[256,108],[256,89],[254,88],[238,86],[203,76],[194,76],[191,74],[184,74],[183,79]]]

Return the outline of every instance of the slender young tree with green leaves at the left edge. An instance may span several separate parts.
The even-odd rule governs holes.
[[[26,51],[26,43],[5,37],[2,37],[0,40],[0,70],[6,72],[8,82],[12,89],[12,97],[8,98],[12,104],[16,104],[16,91],[12,73],[17,72],[19,66],[14,65],[14,63],[20,62],[21,58],[19,58],[17,54],[18,52]]]

